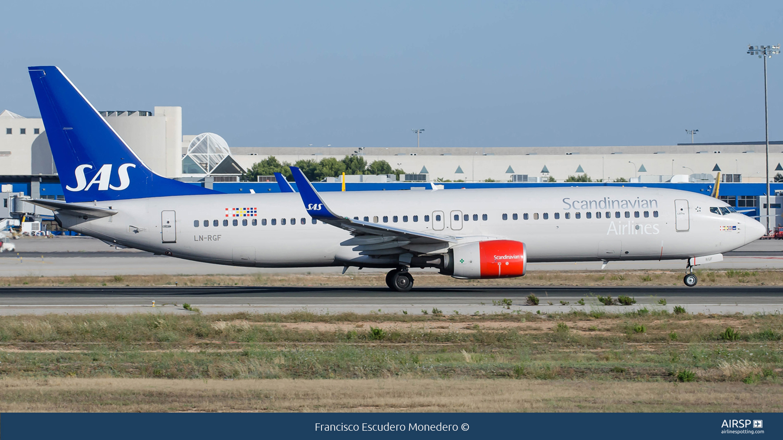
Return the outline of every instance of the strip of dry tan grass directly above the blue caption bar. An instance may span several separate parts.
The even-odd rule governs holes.
[[[67,406],[63,402],[68,402]],[[0,411],[778,412],[783,386],[597,380],[0,380]]]

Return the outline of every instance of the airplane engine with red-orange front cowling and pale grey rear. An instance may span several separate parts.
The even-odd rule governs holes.
[[[514,240],[475,241],[449,251],[446,270],[454,278],[508,278],[523,276],[528,267],[525,243]]]

